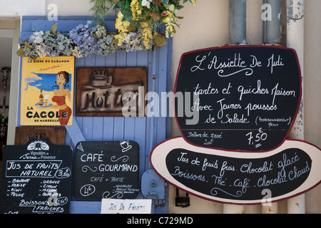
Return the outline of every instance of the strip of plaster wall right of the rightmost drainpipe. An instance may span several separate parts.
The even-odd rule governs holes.
[[[321,147],[321,1],[305,1],[305,140]],[[305,194],[307,213],[321,213],[321,186]]]

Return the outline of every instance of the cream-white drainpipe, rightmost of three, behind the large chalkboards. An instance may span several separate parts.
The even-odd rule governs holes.
[[[294,48],[299,58],[302,76],[302,101],[289,138],[304,140],[303,74],[304,74],[304,0],[287,0],[287,47]],[[288,214],[305,214],[305,195],[287,200]]]

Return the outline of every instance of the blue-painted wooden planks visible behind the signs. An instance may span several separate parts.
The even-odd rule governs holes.
[[[106,18],[103,21],[108,31],[115,31],[115,19]],[[57,31],[68,33],[78,24],[87,24],[92,21],[90,16],[58,16],[58,21],[48,21],[44,16],[23,16],[21,25],[20,41],[29,38],[33,31],[49,31],[51,26],[58,23]],[[111,56],[92,55],[83,58],[75,58],[75,72],[77,67],[84,66],[105,66],[105,67],[148,67],[148,92],[151,92],[153,86],[153,62],[156,63],[156,86],[155,91],[159,95],[161,92],[171,90],[171,56],[172,40],[168,40],[166,46],[154,48],[156,51],[156,60],[153,61],[153,51],[138,51],[131,53],[118,52]],[[20,73],[21,74],[21,73]],[[20,76],[21,78],[21,76]],[[76,96],[76,78],[75,78],[75,96]],[[21,98],[19,97],[19,100]],[[20,101],[19,101],[20,102]],[[76,104],[75,104],[76,105]],[[20,106],[20,105],[19,105]],[[19,107],[20,108],[20,107]],[[18,110],[20,113],[20,110]],[[154,121],[154,130],[151,132],[151,121]],[[18,115],[18,126],[20,115]],[[151,140],[153,137],[153,140]],[[140,174],[143,175],[146,170],[151,168],[149,155],[151,148],[159,142],[170,137],[170,117],[162,118],[123,118],[123,117],[78,117],[73,116],[73,125],[66,127],[65,144],[73,148],[79,141],[97,141],[97,140],[135,140],[140,146]],[[145,185],[146,183],[141,183]],[[149,184],[149,183],[148,183]],[[168,189],[166,190],[168,192]],[[138,199],[142,199],[140,192]],[[168,199],[168,194],[166,194]],[[165,213],[168,211],[168,204],[153,203],[153,213]],[[100,213],[101,202],[81,202],[71,200],[71,213]]]

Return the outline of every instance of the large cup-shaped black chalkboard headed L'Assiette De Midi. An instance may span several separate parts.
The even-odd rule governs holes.
[[[175,117],[185,140],[223,150],[280,145],[301,100],[297,55],[290,48],[228,46],[183,54]]]

